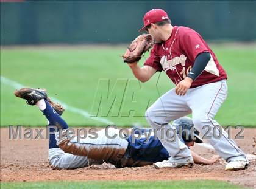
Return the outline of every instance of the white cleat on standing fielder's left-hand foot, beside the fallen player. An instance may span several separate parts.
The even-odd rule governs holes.
[[[183,161],[172,161],[171,159],[163,160],[162,162],[155,163],[155,168],[180,168],[183,166],[192,167],[194,164],[193,160],[188,159],[186,162]]]

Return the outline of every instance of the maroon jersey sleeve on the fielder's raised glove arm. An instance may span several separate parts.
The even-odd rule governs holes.
[[[151,49],[149,58],[144,63],[144,66],[151,66],[156,69],[158,72],[163,70],[160,64],[160,57],[157,55],[157,44],[154,44],[153,48]]]

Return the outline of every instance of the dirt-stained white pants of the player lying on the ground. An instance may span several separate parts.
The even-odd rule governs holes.
[[[65,131],[62,131],[62,134]],[[56,132],[57,145],[60,148],[49,149],[49,165],[54,169],[82,168],[92,164],[101,164],[116,160],[116,156],[126,152],[128,142],[119,136],[119,129],[108,129],[108,135],[116,137],[113,139],[105,135],[105,129],[97,132],[96,139],[80,139],[77,137],[68,140],[67,137],[60,138]]]

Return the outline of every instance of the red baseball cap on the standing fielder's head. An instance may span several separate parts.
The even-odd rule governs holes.
[[[143,31],[150,24],[163,21],[164,19],[169,19],[169,17],[163,9],[149,10],[149,12],[147,12],[144,15],[144,18],[143,18],[144,26],[139,30],[139,32]]]

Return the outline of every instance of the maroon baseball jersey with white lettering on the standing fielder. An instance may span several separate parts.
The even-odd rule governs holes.
[[[209,52],[211,58],[202,74],[193,81],[191,88],[226,79],[227,74],[210,47],[199,33],[188,27],[174,26],[168,40],[154,44],[144,65],[154,67],[158,71],[164,70],[177,85],[187,76],[197,55],[202,52]]]

